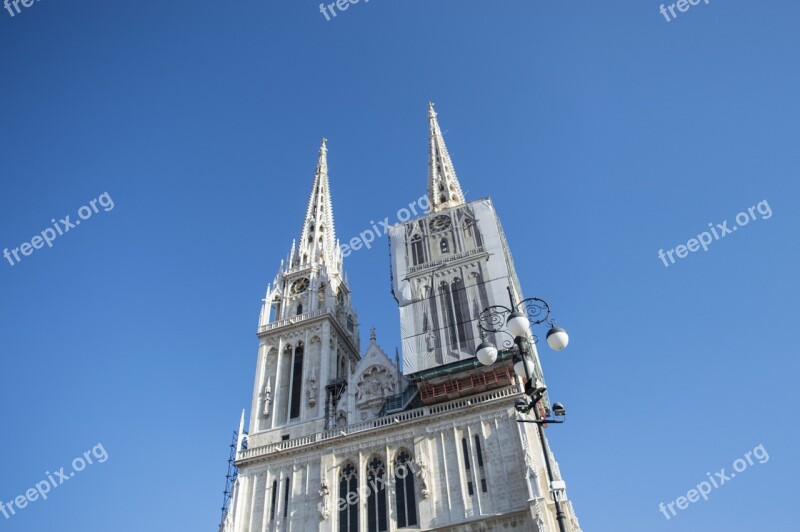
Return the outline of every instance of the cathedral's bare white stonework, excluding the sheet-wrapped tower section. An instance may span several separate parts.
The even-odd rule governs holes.
[[[463,196],[432,107],[429,117],[438,211]],[[478,385],[452,394],[450,377],[407,379],[374,329],[361,353],[328,187],[323,141],[300,242],[264,298],[250,429],[221,531],[558,531],[539,429],[517,422],[513,371],[459,369],[458,382]],[[421,386],[439,383],[443,395],[423,404]],[[555,495],[580,532],[566,492]]]

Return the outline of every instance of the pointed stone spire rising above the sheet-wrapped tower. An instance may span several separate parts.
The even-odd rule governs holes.
[[[430,157],[428,159],[428,199],[434,212],[464,203],[464,194],[444,144],[442,130],[433,103],[428,104],[430,120]]]

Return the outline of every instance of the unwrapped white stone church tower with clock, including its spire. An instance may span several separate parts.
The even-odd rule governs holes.
[[[328,178],[319,150],[300,240],[278,269],[261,309],[251,440],[280,441],[327,429],[346,376],[359,360],[358,317],[342,268]]]

